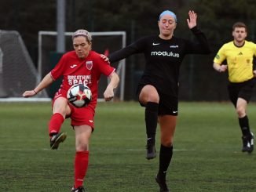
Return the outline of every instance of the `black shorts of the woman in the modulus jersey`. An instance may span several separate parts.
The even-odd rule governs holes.
[[[137,89],[137,98],[140,95],[141,89],[144,87],[144,85],[141,85]],[[174,96],[169,96],[166,94],[163,94],[157,91],[159,94],[159,110],[158,114],[165,115],[165,114],[170,114],[173,116],[177,116],[178,114],[178,100],[177,97]],[[140,100],[139,100],[140,103]],[[140,103],[142,107],[145,107],[142,103]]]

